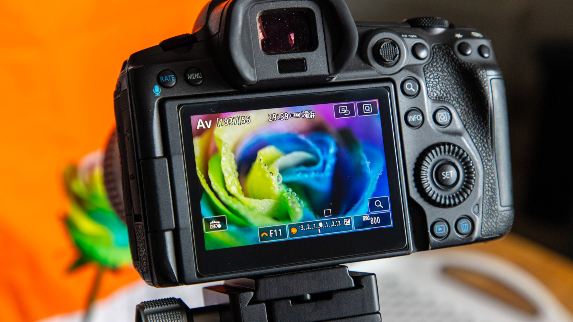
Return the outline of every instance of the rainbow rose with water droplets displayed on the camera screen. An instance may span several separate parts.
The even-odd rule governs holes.
[[[207,250],[258,244],[258,227],[316,220],[325,209],[332,217],[367,213],[385,167],[382,149],[356,138],[368,131],[363,124],[334,127],[318,114],[269,122],[265,111],[191,122],[246,115],[248,124],[205,128],[193,140],[202,217],[226,215],[228,225],[205,234]]]

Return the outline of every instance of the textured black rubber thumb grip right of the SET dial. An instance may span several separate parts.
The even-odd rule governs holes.
[[[513,225],[513,210],[498,210],[498,191],[492,144],[492,107],[486,70],[462,61],[449,45],[434,45],[433,58],[424,66],[430,99],[446,101],[460,115],[476,145],[484,166],[484,200],[481,234],[494,237],[508,233]]]

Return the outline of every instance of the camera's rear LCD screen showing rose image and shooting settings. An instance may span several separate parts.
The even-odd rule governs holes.
[[[332,238],[361,233],[364,242],[382,234],[403,247],[389,93],[368,91],[378,95],[185,105],[197,252],[213,252],[211,264],[217,253],[236,256],[233,249],[299,248],[321,238],[335,245]],[[382,239],[374,246],[387,247]]]

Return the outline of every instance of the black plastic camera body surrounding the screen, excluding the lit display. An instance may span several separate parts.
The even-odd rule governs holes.
[[[309,26],[316,30],[301,50],[265,53],[257,31],[261,13],[281,10],[302,12],[314,19]],[[291,45],[298,41],[291,40]],[[397,236],[403,236],[390,240],[388,233],[384,243],[391,246],[384,249],[356,246],[353,252],[359,244],[351,243],[339,256],[338,250],[326,251],[320,244],[327,239],[319,237],[313,242],[319,246],[300,260],[286,253],[270,260],[265,253],[268,264],[241,266],[234,259],[236,264],[220,272],[200,272],[198,253],[204,249],[199,252],[197,243],[203,231],[193,215],[198,199],[191,183],[197,179],[190,171],[194,160],[186,158],[182,109],[328,95],[345,101],[359,93],[387,95],[387,106],[379,108],[388,116],[390,202],[395,229],[402,231]],[[342,0],[214,0],[192,34],[132,54],[121,68],[114,99],[129,244],[135,268],[151,285],[400,256],[499,238],[512,226],[503,76],[490,40],[442,18],[355,23]],[[282,247],[295,245],[289,243]],[[245,247],[251,246],[234,252]]]

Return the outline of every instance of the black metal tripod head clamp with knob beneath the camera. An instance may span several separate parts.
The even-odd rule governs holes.
[[[180,299],[146,301],[136,322],[380,322],[376,276],[346,266],[237,278],[203,288],[205,307]]]

